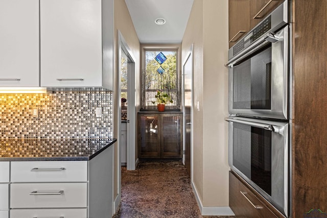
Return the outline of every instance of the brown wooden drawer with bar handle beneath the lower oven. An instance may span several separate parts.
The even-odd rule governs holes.
[[[237,218],[285,217],[255,193],[236,173],[229,172],[229,207]],[[274,211],[274,212],[273,212]]]

